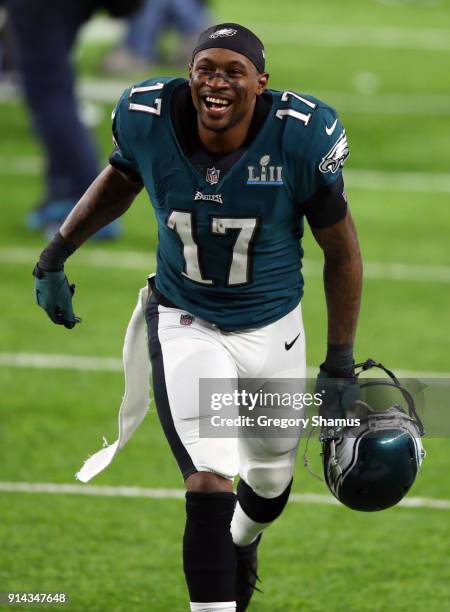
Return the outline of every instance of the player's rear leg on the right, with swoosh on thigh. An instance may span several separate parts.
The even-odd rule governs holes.
[[[239,351],[241,377],[289,378],[297,381],[297,392],[303,391],[306,358],[300,308],[265,328],[231,337],[230,344],[236,354]],[[301,431],[283,438],[271,437],[270,431],[265,437],[248,433],[249,437],[239,438],[241,479],[231,524],[238,561],[238,611],[246,609],[256,585],[256,548],[261,534],[288,501]]]

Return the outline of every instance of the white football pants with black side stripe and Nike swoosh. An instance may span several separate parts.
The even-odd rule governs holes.
[[[295,437],[202,437],[199,380],[298,379],[304,391],[305,335],[300,305],[265,327],[225,332],[186,311],[146,308],[158,414],[184,478],[197,471],[232,480],[238,473],[258,495],[280,495],[292,479]],[[298,339],[289,346],[299,335]],[[257,411],[257,408],[255,412]],[[298,416],[304,416],[300,411]]]

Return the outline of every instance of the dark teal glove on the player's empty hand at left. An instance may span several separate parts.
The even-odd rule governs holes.
[[[53,323],[72,329],[81,322],[72,307],[75,285],[69,285],[64,270],[44,271],[36,264],[33,276],[36,301]]]

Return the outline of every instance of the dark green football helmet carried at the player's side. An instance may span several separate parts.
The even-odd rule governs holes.
[[[395,375],[372,359],[355,366],[355,375],[381,368],[389,379],[358,380],[360,389],[388,385],[406,401],[377,411],[356,400],[347,411],[359,425],[323,429],[321,434],[325,481],[333,495],[352,510],[372,512],[397,504],[409,491],[425,457],[422,422],[411,393]],[[357,371],[359,369],[359,372]]]

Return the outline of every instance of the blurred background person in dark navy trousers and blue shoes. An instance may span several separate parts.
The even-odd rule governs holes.
[[[25,99],[46,154],[46,189],[26,226],[53,235],[99,172],[94,141],[79,116],[72,50],[98,8],[125,16],[140,0],[7,0]],[[112,223],[96,238],[113,239]]]

